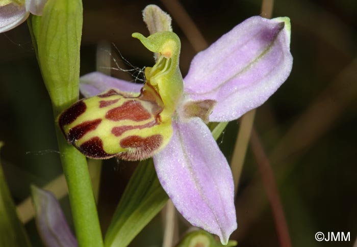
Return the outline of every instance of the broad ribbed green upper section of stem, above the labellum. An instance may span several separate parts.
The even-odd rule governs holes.
[[[79,96],[83,8],[80,0],[48,0],[29,23],[44,83],[60,113]]]

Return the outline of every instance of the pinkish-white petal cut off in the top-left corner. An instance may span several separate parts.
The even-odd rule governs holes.
[[[19,7],[15,4],[8,4],[0,7],[0,33],[15,28],[24,22],[29,14],[24,5]]]

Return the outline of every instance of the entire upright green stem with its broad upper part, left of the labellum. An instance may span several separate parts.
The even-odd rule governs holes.
[[[78,100],[82,22],[81,0],[48,0],[42,16],[29,18],[55,121]],[[86,157],[66,142],[57,124],[56,134],[79,246],[103,246]]]

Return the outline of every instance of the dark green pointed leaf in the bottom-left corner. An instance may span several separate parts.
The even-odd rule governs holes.
[[[0,148],[3,145],[0,142]],[[0,246],[31,246],[29,238],[19,221],[16,207],[6,184],[3,168],[0,164]]]

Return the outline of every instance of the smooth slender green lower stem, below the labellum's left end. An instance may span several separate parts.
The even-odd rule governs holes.
[[[79,246],[103,246],[86,157],[56,134]]]

